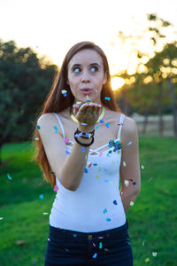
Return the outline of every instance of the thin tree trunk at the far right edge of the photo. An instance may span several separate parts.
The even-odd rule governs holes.
[[[172,80],[170,80],[169,83],[170,83],[170,92],[171,92],[172,110],[173,110],[173,133],[174,137],[177,138],[177,105],[176,105],[175,87]]]

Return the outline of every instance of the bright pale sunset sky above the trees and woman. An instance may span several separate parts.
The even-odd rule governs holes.
[[[58,66],[75,43],[91,41],[104,50],[111,74],[127,67],[131,72],[137,62],[128,36],[141,35],[148,13],[170,21],[177,32],[176,0],[0,0],[0,38],[31,47]],[[119,31],[127,36],[124,43]],[[167,35],[174,38],[170,30]],[[136,39],[135,48],[152,53],[148,35]]]

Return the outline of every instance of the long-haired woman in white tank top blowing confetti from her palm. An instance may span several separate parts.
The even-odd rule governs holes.
[[[126,212],[140,192],[137,129],[95,43],[67,52],[36,128],[36,160],[57,191],[45,266],[133,265]]]

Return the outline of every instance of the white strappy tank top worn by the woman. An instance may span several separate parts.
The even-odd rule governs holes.
[[[54,114],[65,139],[63,124],[59,115]],[[124,119],[125,115],[121,113],[116,140],[120,140]],[[104,152],[98,152],[106,146]],[[72,146],[66,145],[66,149],[70,152]],[[76,191],[67,190],[56,177],[58,192],[50,212],[50,225],[72,231],[96,232],[125,224],[126,214],[119,193],[120,160],[121,150],[115,153],[109,144],[102,145],[96,150],[89,149],[88,163]]]

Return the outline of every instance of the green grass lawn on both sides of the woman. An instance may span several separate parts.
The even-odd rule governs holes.
[[[43,266],[44,263],[50,208],[56,192],[42,180],[42,172],[35,163],[30,162],[33,152],[30,143],[3,147],[4,164],[0,168],[2,266]],[[140,137],[140,162],[144,167],[141,193],[127,212],[135,266],[175,266],[177,141],[171,137]],[[41,194],[43,200],[39,198]],[[153,256],[155,252],[157,255]]]

